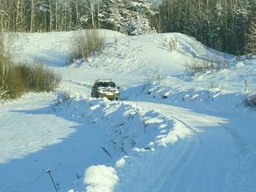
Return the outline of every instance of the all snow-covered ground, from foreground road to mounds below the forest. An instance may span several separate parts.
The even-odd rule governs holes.
[[[256,191],[255,109],[244,104],[256,58],[180,33],[102,34],[101,55],[68,65],[74,33],[19,34],[15,60],[46,63],[63,81],[0,105],[0,191],[54,191],[47,170],[58,191]],[[192,76],[194,60],[229,67]],[[123,101],[90,98],[97,78],[112,78]]]

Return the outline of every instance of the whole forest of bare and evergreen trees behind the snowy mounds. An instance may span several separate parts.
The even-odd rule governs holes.
[[[225,53],[256,53],[255,0],[0,0],[3,32],[113,29],[184,33]]]

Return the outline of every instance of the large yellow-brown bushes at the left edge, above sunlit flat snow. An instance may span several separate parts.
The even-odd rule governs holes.
[[[40,63],[13,63],[0,58],[0,100],[19,98],[26,92],[54,91],[61,77]]]

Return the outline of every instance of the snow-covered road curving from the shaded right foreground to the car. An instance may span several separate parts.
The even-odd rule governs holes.
[[[78,90],[84,87],[75,84]],[[198,108],[194,111],[147,99],[123,103],[155,111],[176,123],[171,134],[159,140],[166,146],[164,149],[144,157],[146,161],[133,162],[133,168],[123,168],[115,191],[252,192],[256,188],[256,169],[252,164],[256,160],[253,151],[256,142],[248,135],[256,132],[252,118],[199,112]]]

